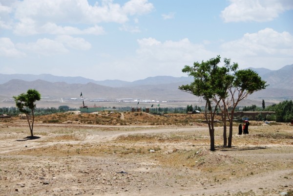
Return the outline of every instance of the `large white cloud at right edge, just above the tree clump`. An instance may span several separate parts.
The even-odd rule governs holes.
[[[221,45],[225,57],[244,66],[268,68],[293,62],[293,35],[265,28],[257,33],[246,33],[241,39]]]

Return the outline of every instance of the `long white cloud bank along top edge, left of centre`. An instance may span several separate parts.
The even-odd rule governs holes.
[[[142,15],[150,12],[153,5],[147,0],[129,0],[123,6],[112,0],[103,0],[102,4],[91,6],[87,0],[23,0],[19,1],[15,18],[29,18],[41,25],[42,23],[86,23],[99,22],[124,23],[128,15]],[[21,22],[22,23],[22,22]]]

